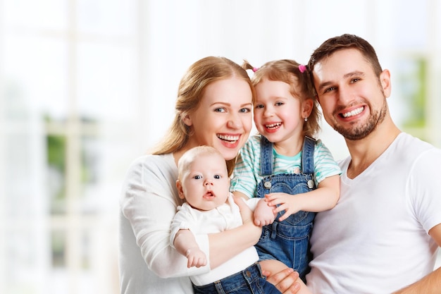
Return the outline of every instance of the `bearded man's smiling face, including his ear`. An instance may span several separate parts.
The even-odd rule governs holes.
[[[389,71],[375,76],[359,50],[335,51],[316,63],[313,78],[325,120],[346,139],[363,139],[383,122]]]

